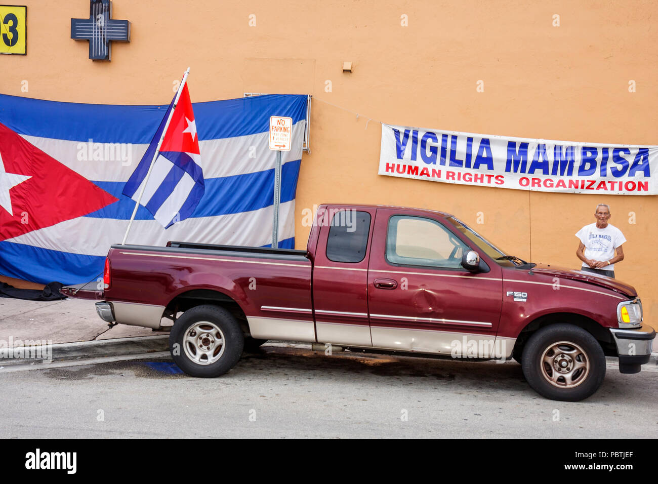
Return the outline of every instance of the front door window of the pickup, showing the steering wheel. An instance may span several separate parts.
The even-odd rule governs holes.
[[[386,260],[393,264],[461,268],[468,246],[432,219],[394,215],[388,221]]]

